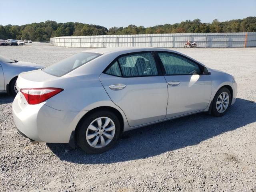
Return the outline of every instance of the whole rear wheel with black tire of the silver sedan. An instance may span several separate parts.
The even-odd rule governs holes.
[[[85,117],[78,126],[76,139],[89,154],[103,153],[114,146],[120,135],[120,122],[109,110],[100,110]]]

